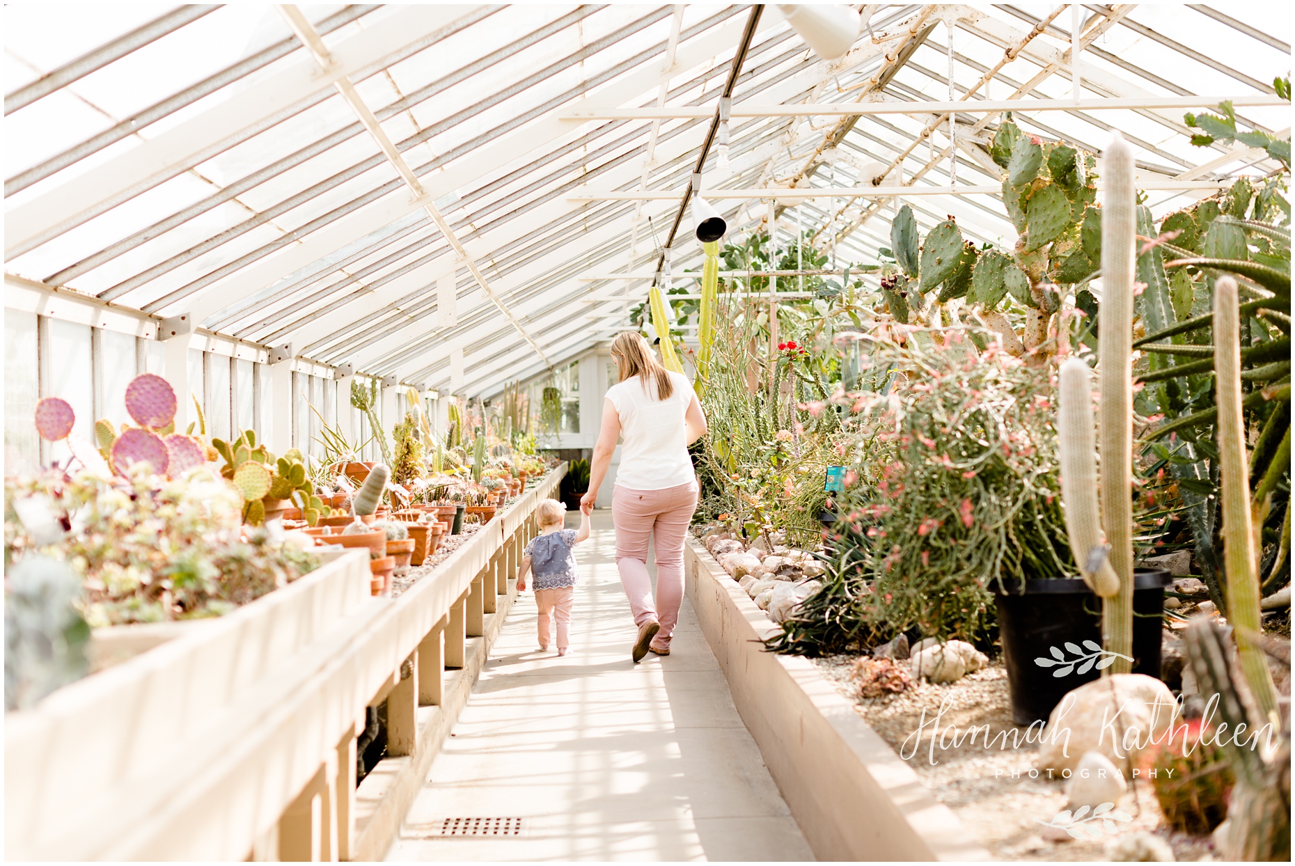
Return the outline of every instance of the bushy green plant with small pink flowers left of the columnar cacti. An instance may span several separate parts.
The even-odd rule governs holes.
[[[835,577],[777,642],[847,649],[918,627],[976,641],[1008,577],[1077,573],[1061,510],[1054,383],[966,329],[877,333],[839,441]]]

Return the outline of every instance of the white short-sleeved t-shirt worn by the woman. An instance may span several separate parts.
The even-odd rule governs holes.
[[[635,375],[607,388],[620,416],[620,466],[616,484],[632,491],[662,491],[694,480],[688,456],[684,413],[693,401],[693,384],[681,373],[668,373],[675,392],[657,399],[657,386],[644,391]]]

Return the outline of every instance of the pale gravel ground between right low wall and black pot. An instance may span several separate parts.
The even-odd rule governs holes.
[[[831,655],[812,661],[842,695],[855,703],[855,709],[868,725],[913,768],[935,799],[958,816],[967,832],[995,860],[1109,860],[1105,849],[1110,836],[1107,840],[1076,841],[1036,823],[1036,819],[1048,821],[1064,809],[1066,795],[1063,783],[1049,781],[1046,770],[1036,772],[1036,778],[1030,778],[1039,747],[1026,743],[1026,729],[1011,721],[1008,672],[1001,658],[951,685],[921,681],[901,694],[869,699],[860,698],[850,680],[851,668],[859,658],[852,654]],[[936,726],[944,731],[949,725],[957,726],[961,734],[973,726],[988,725],[992,746],[985,748],[982,735],[974,744],[940,748],[939,740],[932,740],[930,733]],[[921,738],[916,735],[919,729],[923,731]],[[1001,731],[1006,731],[1006,737],[1001,737]],[[1006,748],[1002,747],[1004,740]],[[1013,773],[1018,774],[1017,778]],[[1133,816],[1132,822],[1121,825],[1120,836],[1153,831],[1172,845],[1180,861],[1212,860],[1213,848],[1208,838],[1169,832],[1162,827],[1160,808],[1149,782],[1136,782],[1118,808]]]

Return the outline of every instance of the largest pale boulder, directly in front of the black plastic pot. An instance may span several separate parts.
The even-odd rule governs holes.
[[[1085,752],[1115,765],[1163,743],[1176,704],[1169,687],[1145,673],[1115,673],[1085,682],[1062,698],[1048,717],[1039,766],[1074,770]]]

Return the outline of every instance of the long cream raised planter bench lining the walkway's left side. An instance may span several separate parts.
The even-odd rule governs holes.
[[[512,602],[535,505],[565,471],[396,599],[372,598],[366,559],[350,553],[8,713],[6,858],[359,858],[355,737],[365,707],[387,699],[388,749],[399,755],[404,740],[430,764],[439,740],[418,737],[417,716],[447,726],[457,708],[420,711],[417,676],[401,678],[401,668],[417,671],[420,646],[439,650],[442,632],[449,656],[456,634],[460,646],[464,633],[482,636],[467,645],[484,658],[486,620],[502,614],[500,594],[504,610]],[[464,669],[443,691],[466,699],[471,682],[460,681],[475,672],[460,654],[451,660]],[[401,699],[412,702],[408,718]],[[378,835],[365,834],[364,856],[381,856]]]

